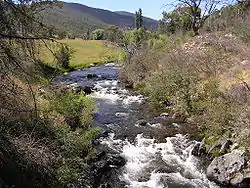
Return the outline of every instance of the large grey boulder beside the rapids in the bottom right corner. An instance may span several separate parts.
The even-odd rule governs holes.
[[[244,180],[242,170],[246,165],[245,152],[233,150],[216,157],[207,168],[207,177],[221,185],[240,185]]]

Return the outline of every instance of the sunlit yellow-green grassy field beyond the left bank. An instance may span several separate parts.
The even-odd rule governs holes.
[[[115,62],[119,59],[120,50],[103,41],[94,40],[60,40],[73,50],[73,57],[70,61],[70,67],[74,69],[87,68],[92,64],[100,65],[108,62]],[[57,51],[58,46],[54,43],[46,44],[50,49]],[[55,58],[49,49],[41,46],[40,59],[53,67],[58,67]]]

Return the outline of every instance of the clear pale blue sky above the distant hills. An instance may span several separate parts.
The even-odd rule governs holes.
[[[162,18],[162,12],[166,10],[166,4],[170,0],[66,0],[94,8],[101,8],[111,11],[127,11],[134,13],[139,8],[146,17],[156,20]]]

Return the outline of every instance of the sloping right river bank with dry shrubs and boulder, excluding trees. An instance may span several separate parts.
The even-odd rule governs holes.
[[[155,40],[123,63],[122,81],[161,113],[196,125],[195,138],[202,143],[193,154],[212,162],[209,179],[248,186],[249,46],[224,32]]]

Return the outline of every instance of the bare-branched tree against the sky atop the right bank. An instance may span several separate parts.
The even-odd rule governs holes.
[[[173,5],[176,8],[187,7],[184,14],[191,18],[191,28],[195,35],[219,5],[228,3],[227,0],[177,0]]]

